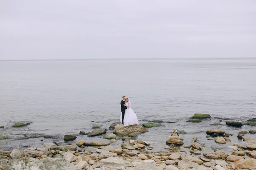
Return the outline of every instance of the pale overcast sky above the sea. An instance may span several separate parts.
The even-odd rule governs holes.
[[[1,0],[0,59],[256,57],[256,0]]]

